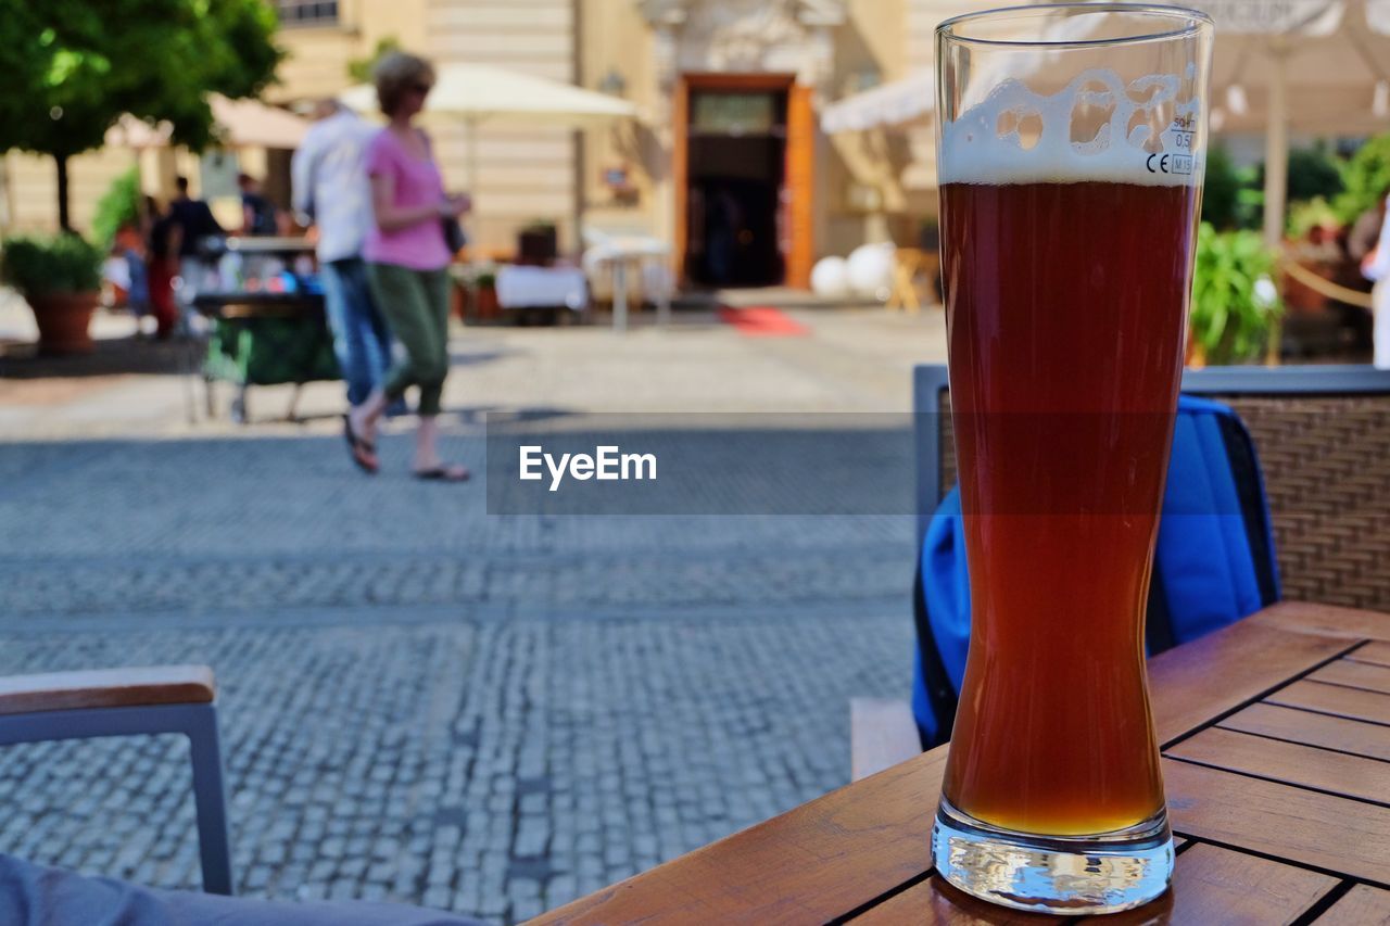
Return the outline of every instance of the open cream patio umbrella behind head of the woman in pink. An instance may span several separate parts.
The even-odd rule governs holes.
[[[338,97],[359,113],[377,110],[377,90],[368,83]],[[425,97],[425,115],[460,117],[468,128],[467,168],[477,177],[478,127],[484,122],[585,128],[637,117],[637,107],[573,83],[548,81],[488,64],[445,64],[435,68],[435,85]]]

